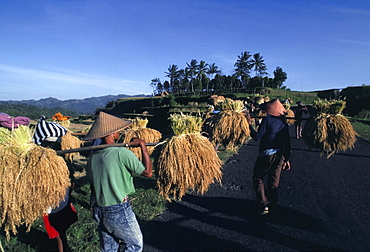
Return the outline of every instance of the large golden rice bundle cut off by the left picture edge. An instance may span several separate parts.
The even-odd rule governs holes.
[[[44,211],[59,204],[70,186],[63,158],[34,144],[32,131],[22,128],[9,131],[0,146],[0,226],[8,239],[20,225],[29,231]]]

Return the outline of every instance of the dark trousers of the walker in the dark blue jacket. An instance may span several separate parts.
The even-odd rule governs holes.
[[[257,203],[260,206],[277,203],[277,189],[280,182],[280,174],[284,165],[281,153],[270,156],[257,157],[253,173],[253,185],[256,192]],[[267,186],[264,179],[267,176]]]

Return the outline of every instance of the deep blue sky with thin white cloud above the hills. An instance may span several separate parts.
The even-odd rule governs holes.
[[[370,1],[0,0],[0,48],[0,100],[151,94],[172,64],[230,75],[244,51],[291,90],[370,85]]]

